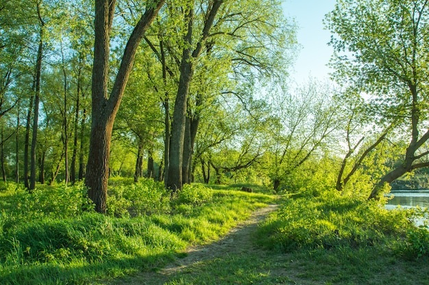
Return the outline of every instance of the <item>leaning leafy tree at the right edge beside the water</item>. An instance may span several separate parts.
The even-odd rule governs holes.
[[[343,0],[326,17],[334,33],[332,65],[337,78],[376,97],[373,111],[380,120],[408,125],[407,147],[397,167],[375,185],[376,198],[386,183],[429,163],[421,150],[429,139],[429,1]],[[343,52],[346,53],[343,53]]]

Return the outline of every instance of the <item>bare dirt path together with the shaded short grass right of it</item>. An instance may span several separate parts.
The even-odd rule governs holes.
[[[278,207],[270,204],[260,208],[219,241],[188,247],[182,258],[161,269],[96,284],[429,284],[429,271],[421,268],[424,260],[404,260],[372,247],[282,253],[258,246],[254,234],[258,224]]]

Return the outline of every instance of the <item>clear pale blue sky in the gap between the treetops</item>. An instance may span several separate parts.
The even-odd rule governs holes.
[[[304,83],[309,77],[329,78],[330,68],[326,66],[333,49],[328,46],[330,31],[323,29],[322,20],[334,9],[336,0],[284,0],[284,14],[295,18],[297,40],[301,49],[291,70],[291,79]]]

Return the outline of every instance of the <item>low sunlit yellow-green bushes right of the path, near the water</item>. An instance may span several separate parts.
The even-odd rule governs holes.
[[[387,211],[363,198],[324,192],[286,200],[262,226],[262,244],[284,252],[296,249],[390,246],[412,230],[406,211]],[[265,237],[264,237],[265,236]]]

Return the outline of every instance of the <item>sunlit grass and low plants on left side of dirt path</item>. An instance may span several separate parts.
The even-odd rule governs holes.
[[[156,182],[112,182],[108,215],[84,187],[0,191],[0,284],[89,284],[161,267],[193,243],[218,239],[269,195],[186,187],[170,199]]]

